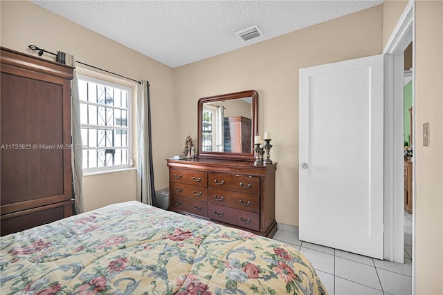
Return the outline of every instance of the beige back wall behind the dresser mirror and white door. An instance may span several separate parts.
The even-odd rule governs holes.
[[[381,53],[382,21],[376,6],[175,68],[174,93],[189,118],[181,137],[197,135],[199,97],[255,89],[259,132],[271,132],[271,160],[278,162],[276,219],[298,225],[298,69]]]

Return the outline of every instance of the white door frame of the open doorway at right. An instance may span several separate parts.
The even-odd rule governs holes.
[[[385,246],[384,258],[404,263],[404,50],[413,42],[415,69],[415,1],[406,4],[397,26],[392,31],[385,55]],[[415,71],[413,70],[413,108],[415,108]],[[415,115],[413,146],[416,146]],[[415,171],[415,158],[413,158]],[[413,173],[413,212],[415,212],[415,175]],[[413,214],[413,249],[415,249],[415,217]],[[413,250],[413,289],[415,289],[415,251]]]

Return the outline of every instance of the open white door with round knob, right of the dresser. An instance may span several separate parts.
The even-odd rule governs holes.
[[[383,259],[383,55],[300,69],[300,240]]]

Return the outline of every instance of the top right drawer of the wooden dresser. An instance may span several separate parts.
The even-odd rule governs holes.
[[[208,173],[208,186],[212,189],[226,189],[240,193],[260,193],[260,178],[228,173]]]

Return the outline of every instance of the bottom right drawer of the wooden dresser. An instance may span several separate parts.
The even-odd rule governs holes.
[[[246,229],[260,230],[260,214],[251,211],[233,209],[217,204],[208,204],[208,217],[213,220],[230,223]]]

